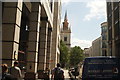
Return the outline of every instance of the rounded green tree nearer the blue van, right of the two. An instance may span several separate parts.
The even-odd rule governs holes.
[[[70,52],[70,65],[77,66],[81,61],[83,61],[83,50],[79,46],[71,48]]]

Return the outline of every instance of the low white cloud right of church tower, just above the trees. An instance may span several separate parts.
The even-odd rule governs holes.
[[[80,40],[78,38],[73,37],[74,35],[72,35],[72,40],[71,40],[71,47],[74,46],[80,46],[82,49],[84,48],[89,48],[92,45],[92,41],[89,40]]]

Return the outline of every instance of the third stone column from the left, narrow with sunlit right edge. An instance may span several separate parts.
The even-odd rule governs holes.
[[[41,21],[40,27],[40,45],[38,56],[38,70],[43,71],[46,67],[46,53],[47,53],[47,34],[48,34],[48,22]]]

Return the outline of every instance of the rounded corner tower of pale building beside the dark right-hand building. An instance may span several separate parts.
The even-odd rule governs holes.
[[[101,55],[102,56],[109,56],[108,55],[108,27],[107,22],[101,23]]]

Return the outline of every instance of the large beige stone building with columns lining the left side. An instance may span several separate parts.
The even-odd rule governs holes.
[[[21,68],[26,67],[25,78],[32,80],[37,72],[40,78],[42,71],[50,69],[53,65],[51,48],[54,39],[57,51],[53,54],[59,54],[60,29],[54,28],[60,25],[60,8],[61,0],[3,2],[2,62],[12,66],[14,61],[19,61]],[[59,61],[59,56],[54,58],[53,61]]]

